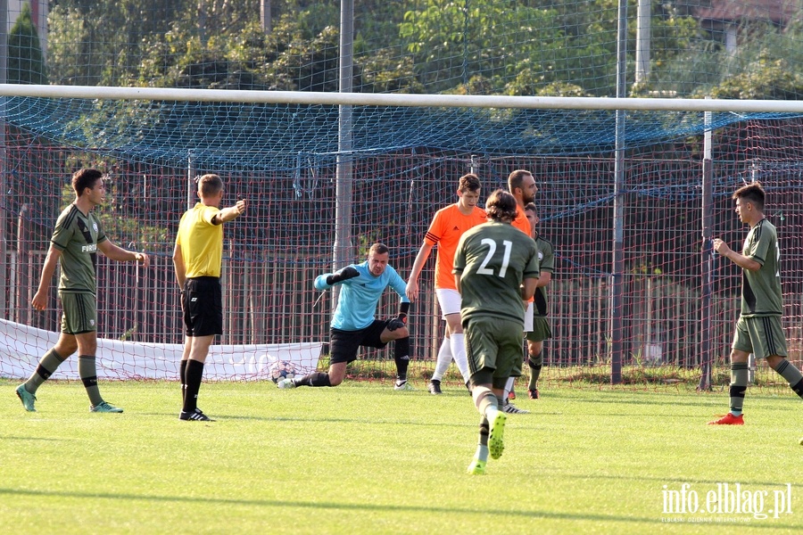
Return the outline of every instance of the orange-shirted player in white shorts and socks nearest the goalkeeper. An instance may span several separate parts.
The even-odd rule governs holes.
[[[438,246],[438,257],[435,263],[435,295],[441,307],[441,314],[446,321],[446,332],[438,350],[435,373],[429,382],[431,394],[441,393],[443,374],[454,358],[463,382],[468,386],[468,360],[463,342],[463,326],[460,324],[460,294],[454,285],[451,269],[454,265],[454,251],[457,249],[460,236],[469,228],[485,222],[485,212],[476,203],[479,201],[480,181],[476,175],[469,173],[459,178],[458,202],[450,204],[435,212],[424,235],[424,243],[410,269],[407,281],[407,297],[411,302],[418,299],[418,276],[429,258],[435,245]]]

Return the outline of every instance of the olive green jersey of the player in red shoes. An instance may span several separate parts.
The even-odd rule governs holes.
[[[778,233],[766,219],[753,226],[741,254],[761,264],[757,271],[741,270],[741,316],[781,316],[781,251],[778,250]]]

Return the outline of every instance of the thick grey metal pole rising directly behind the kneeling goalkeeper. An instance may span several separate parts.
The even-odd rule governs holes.
[[[354,0],[340,3],[340,93],[352,92]],[[354,258],[352,251],[352,106],[339,106],[337,165],[335,169],[334,268],[343,268]],[[332,292],[333,306],[338,292]]]

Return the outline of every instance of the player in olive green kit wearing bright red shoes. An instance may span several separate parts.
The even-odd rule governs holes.
[[[803,374],[786,359],[786,337],[781,326],[781,252],[777,231],[764,216],[765,198],[764,188],[757,182],[733,193],[736,214],[750,227],[741,254],[721,239],[714,240],[714,251],[741,268],[741,314],[731,345],[731,410],[708,424],[744,424],[741,408],[748,385],[750,353],[756,358],[766,358],[767,365],[803,398]]]

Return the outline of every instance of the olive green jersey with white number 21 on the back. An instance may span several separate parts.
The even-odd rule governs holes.
[[[533,238],[509,223],[475,226],[460,237],[454,255],[460,275],[460,318],[500,317],[524,325],[520,286],[538,278],[538,247]]]

